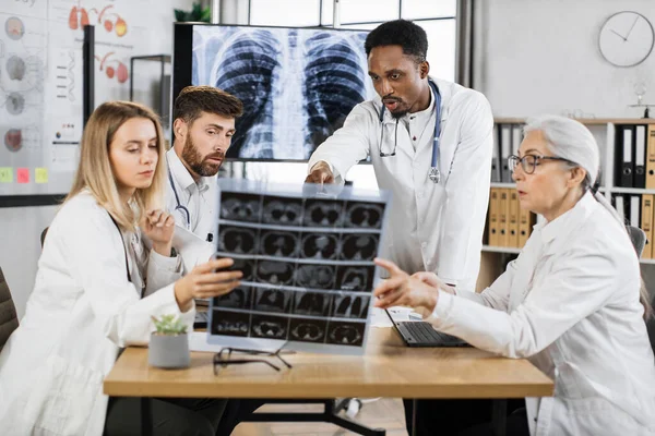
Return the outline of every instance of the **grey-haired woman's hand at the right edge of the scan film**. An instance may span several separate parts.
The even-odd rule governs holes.
[[[437,306],[439,288],[412,278],[393,262],[381,258],[376,265],[386,269],[391,277],[373,290],[377,296],[376,307],[409,306],[424,316],[431,314]]]

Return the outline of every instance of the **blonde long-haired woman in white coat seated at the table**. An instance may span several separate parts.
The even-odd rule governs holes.
[[[145,107],[106,102],[90,118],[78,174],[49,228],[25,316],[0,354],[2,434],[103,434],[103,379],[120,349],[147,344],[152,315],[177,314],[191,329],[194,298],[238,286],[240,272],[214,272],[229,259],[181,278],[171,251],[175,222],[160,209],[164,153],[157,117]],[[155,434],[214,434],[224,405],[153,400]],[[124,414],[109,414],[107,424],[108,434],[140,431]]]

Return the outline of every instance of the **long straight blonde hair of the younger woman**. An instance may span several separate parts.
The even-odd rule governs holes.
[[[133,118],[145,118],[155,125],[159,158],[153,183],[146,189],[138,189],[128,205],[121,202],[118,194],[116,178],[109,160],[109,146],[116,131],[126,121]],[[155,112],[131,101],[104,102],[92,113],[84,128],[80,165],[73,186],[64,202],[78,195],[82,190],[88,190],[122,230],[133,231],[144,210],[163,206],[166,183],[165,153],[164,131]]]

